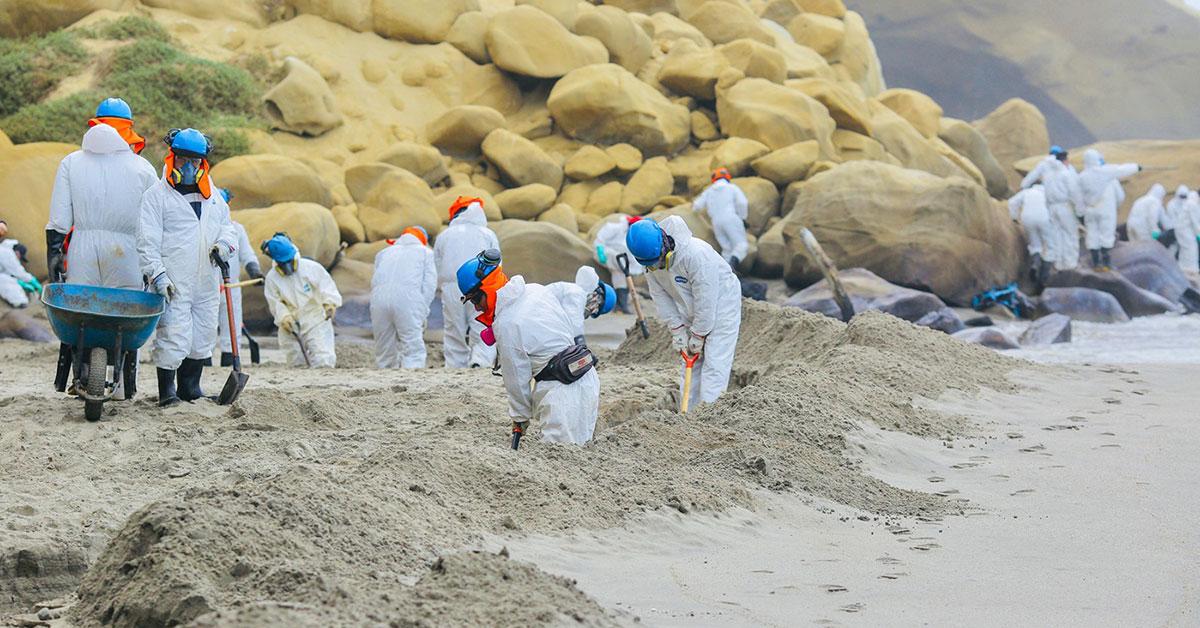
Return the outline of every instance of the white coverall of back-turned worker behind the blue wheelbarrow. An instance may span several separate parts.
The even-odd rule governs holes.
[[[59,163],[46,223],[62,234],[74,228],[68,282],[142,289],[138,221],[142,196],[157,179],[154,166],[112,126],[97,124],[84,133],[83,149]]]

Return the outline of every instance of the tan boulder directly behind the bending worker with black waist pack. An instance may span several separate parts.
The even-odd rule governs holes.
[[[542,285],[575,281],[580,267],[593,265],[592,247],[553,222],[502,220],[491,227],[500,239],[509,276],[522,275],[526,281]],[[606,270],[600,273],[607,275]]]

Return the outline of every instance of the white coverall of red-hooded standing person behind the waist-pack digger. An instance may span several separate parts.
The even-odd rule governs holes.
[[[496,361],[496,347],[488,347],[479,339],[484,324],[475,321],[478,313],[474,306],[462,303],[455,274],[458,267],[480,251],[499,247],[500,240],[487,228],[487,217],[479,203],[472,203],[462,210],[433,243],[433,258],[438,265],[438,283],[442,288],[442,316],[445,319],[442,348],[450,369],[466,369],[470,365],[486,367]]]

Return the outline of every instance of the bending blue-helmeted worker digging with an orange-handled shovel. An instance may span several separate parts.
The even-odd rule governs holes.
[[[712,403],[730,383],[742,327],[742,287],[708,243],[679,216],[629,228],[629,250],[647,269],[650,297],[676,351],[700,355],[689,405]]]

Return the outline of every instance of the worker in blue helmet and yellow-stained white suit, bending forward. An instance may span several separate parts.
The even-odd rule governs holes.
[[[288,364],[335,367],[334,315],[342,306],[342,293],[334,277],[325,267],[300,257],[300,250],[286,233],[276,233],[263,243],[262,250],[275,262],[263,282],[263,295]]]

